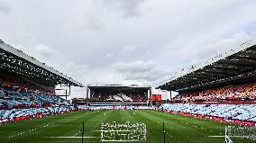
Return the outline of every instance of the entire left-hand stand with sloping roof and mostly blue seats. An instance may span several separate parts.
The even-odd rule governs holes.
[[[67,96],[55,94],[56,85],[84,87],[1,40],[0,122],[74,110]]]

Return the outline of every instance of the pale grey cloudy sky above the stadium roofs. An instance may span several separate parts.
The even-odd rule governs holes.
[[[85,85],[155,86],[255,38],[255,15],[255,0],[0,0],[0,39]]]

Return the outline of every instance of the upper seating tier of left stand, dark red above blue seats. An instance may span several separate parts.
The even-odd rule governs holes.
[[[1,108],[69,105],[54,94],[53,87],[37,85],[21,76],[0,75]]]

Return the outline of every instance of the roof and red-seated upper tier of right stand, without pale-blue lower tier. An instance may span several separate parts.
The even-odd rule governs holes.
[[[251,101],[256,94],[256,41],[249,40],[199,66],[170,77],[160,89],[174,102]]]

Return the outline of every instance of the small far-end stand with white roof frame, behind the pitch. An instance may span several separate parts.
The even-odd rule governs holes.
[[[90,105],[152,105],[151,86],[87,85]]]

